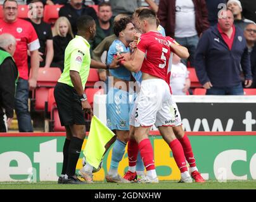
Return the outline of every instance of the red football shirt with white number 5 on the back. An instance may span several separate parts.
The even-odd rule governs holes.
[[[163,37],[159,32],[147,32],[141,35],[137,48],[146,54],[141,66],[143,73],[166,81],[170,57],[168,39],[170,37]]]

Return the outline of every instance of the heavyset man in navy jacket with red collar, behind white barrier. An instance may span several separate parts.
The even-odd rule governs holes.
[[[217,25],[210,27],[198,42],[195,54],[198,80],[207,95],[243,95],[241,68],[245,87],[252,85],[250,56],[243,31],[233,25],[230,10],[221,11]]]

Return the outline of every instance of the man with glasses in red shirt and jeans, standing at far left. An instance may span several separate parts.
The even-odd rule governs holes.
[[[18,118],[20,132],[32,132],[32,123],[29,114],[28,98],[29,88],[37,84],[39,69],[39,40],[34,27],[29,21],[18,19],[18,4],[15,0],[6,0],[3,4],[4,18],[0,19],[0,35],[10,33],[16,38],[16,51],[14,59],[18,67],[19,79],[16,86],[15,111]],[[27,64],[27,50],[30,52],[31,69]]]

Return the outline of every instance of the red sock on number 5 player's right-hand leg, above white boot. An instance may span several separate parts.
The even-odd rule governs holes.
[[[177,166],[179,167],[179,170],[181,170],[181,173],[188,171],[184,151],[179,140],[177,139],[172,140],[169,143],[169,146],[170,146],[170,149],[172,150],[172,155],[174,156],[174,160],[176,161]]]

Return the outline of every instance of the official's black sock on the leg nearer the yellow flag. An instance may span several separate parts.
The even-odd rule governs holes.
[[[81,140],[76,137],[70,139],[70,145],[68,148],[68,163],[66,174],[68,177],[75,175],[75,167],[77,166],[77,160],[80,156],[80,151],[82,148],[82,143],[84,140]]]

